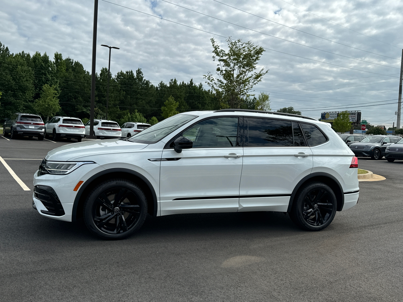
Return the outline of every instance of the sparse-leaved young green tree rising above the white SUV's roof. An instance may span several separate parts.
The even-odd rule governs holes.
[[[206,83],[217,94],[222,95],[221,107],[241,108],[247,103],[251,94],[249,91],[254,85],[262,81],[268,72],[262,68],[256,72],[256,65],[265,51],[263,47],[254,45],[251,41],[243,42],[241,39],[226,39],[228,52],[221,49],[214,38],[210,39],[213,46],[213,61],[217,61],[216,74],[211,72],[204,75]]]

